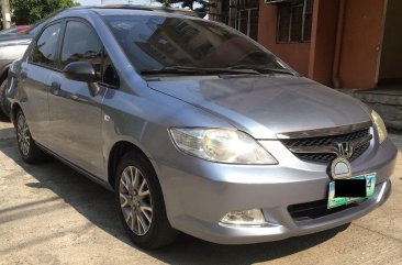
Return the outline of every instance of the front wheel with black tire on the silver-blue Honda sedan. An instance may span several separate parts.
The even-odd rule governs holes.
[[[143,155],[130,152],[122,157],[114,191],[120,219],[136,245],[155,250],[175,241],[178,232],[169,224],[160,185]]]

